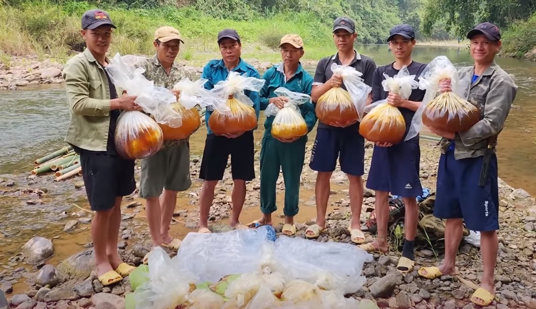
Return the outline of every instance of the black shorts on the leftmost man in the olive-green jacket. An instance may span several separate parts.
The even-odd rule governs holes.
[[[84,185],[91,210],[114,207],[115,198],[136,190],[134,161],[107,153],[80,153]]]

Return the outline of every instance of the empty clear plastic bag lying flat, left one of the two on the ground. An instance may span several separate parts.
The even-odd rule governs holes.
[[[188,233],[177,257],[177,267],[187,269],[201,282],[218,282],[229,274],[251,273],[258,269],[261,248],[266,242],[265,226],[256,230],[226,233]]]

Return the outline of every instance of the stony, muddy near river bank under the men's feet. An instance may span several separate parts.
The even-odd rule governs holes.
[[[257,139],[256,139],[257,141]],[[260,141],[258,139],[258,141]],[[241,222],[247,224],[260,215],[258,210],[258,143],[256,142],[257,179],[247,184],[247,196]],[[300,192],[300,213],[296,217],[295,237],[304,238],[307,226],[314,223],[315,213],[315,172],[310,170],[307,162],[310,158],[311,141],[306,152],[306,166],[302,174]],[[365,170],[369,170],[373,147],[367,144]],[[434,143],[421,142],[421,173],[423,187],[435,191],[437,161],[439,150]],[[192,187],[180,193],[177,200],[174,222],[170,229],[172,236],[183,238],[188,232],[195,232],[198,220],[198,196],[201,182],[197,180],[200,159],[193,155],[191,159]],[[74,178],[61,183],[51,182],[51,177],[27,175],[3,175],[0,180],[0,195],[4,203],[18,202],[18,211],[49,211],[58,214],[56,224],[47,231],[39,230],[36,223],[17,224],[10,230],[1,229],[0,253],[2,270],[0,286],[7,291],[13,307],[20,308],[75,308],[96,307],[102,301],[113,303],[122,308],[123,296],[131,292],[128,278],[121,284],[105,288],[95,280],[91,256],[91,238],[89,229],[91,213],[87,210],[84,187],[81,178]],[[364,181],[367,174],[364,175]],[[139,180],[139,166],[136,170]],[[346,230],[349,224],[349,195],[347,179],[338,169],[332,176],[331,196],[329,201],[328,226],[321,237],[312,241],[340,241],[349,243]],[[489,308],[536,308],[536,203],[523,189],[514,189],[500,181],[500,226],[498,234],[500,249],[498,253],[496,274],[497,299]],[[229,231],[228,216],[230,211],[230,191],[232,180],[227,170],[224,180],[215,194],[210,211],[210,229],[213,232]],[[278,203],[281,205],[284,192],[282,178],[278,180]],[[150,236],[144,218],[143,201],[136,194],[124,198],[118,249],[126,262],[139,265],[142,257],[150,249]],[[363,202],[361,222],[368,219],[374,209],[374,193],[366,190]],[[77,206],[73,206],[77,204]],[[57,205],[63,205],[59,207]],[[80,209],[83,208],[83,209]],[[280,208],[274,215],[274,227],[281,231],[282,219]],[[25,225],[28,224],[28,225]],[[34,232],[21,233],[31,228]],[[24,235],[24,236],[23,236]],[[21,246],[34,236],[42,236],[38,248],[41,256],[31,256],[30,251],[21,250]],[[24,238],[23,238],[24,237]],[[373,236],[367,233],[367,241]],[[415,270],[400,275],[396,263],[400,256],[398,248],[393,246],[391,237],[390,252],[375,255],[375,260],[366,263],[363,274],[367,283],[352,295],[358,299],[373,300],[379,307],[389,308],[473,308],[469,303],[472,290],[467,281],[479,284],[482,272],[480,253],[477,247],[463,242],[459,248],[458,276],[443,276],[434,281],[419,277],[416,271],[421,266],[430,266],[441,260],[440,249],[420,247],[417,249]],[[174,255],[173,252],[168,252]],[[44,254],[44,255],[42,255]],[[49,256],[54,254],[53,256]],[[437,257],[435,256],[437,254]],[[32,259],[35,257],[34,259]],[[33,261],[32,261],[33,260]],[[31,262],[32,261],[32,262]],[[465,282],[466,284],[462,283]],[[48,285],[48,286],[47,286]],[[471,284],[469,284],[471,285]]]

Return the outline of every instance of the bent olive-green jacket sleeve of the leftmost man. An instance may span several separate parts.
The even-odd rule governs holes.
[[[110,100],[90,98],[91,81],[84,65],[78,61],[65,64],[63,79],[67,90],[69,108],[75,115],[108,116],[110,113]],[[99,82],[100,83],[100,82]],[[100,85],[104,87],[105,85]]]

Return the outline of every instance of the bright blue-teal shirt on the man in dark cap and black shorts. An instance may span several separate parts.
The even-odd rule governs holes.
[[[246,73],[247,77],[255,77],[260,79],[259,72],[254,67],[243,61],[242,58],[240,58],[239,64],[232,71],[239,72],[241,75],[243,73]],[[221,80],[227,79],[227,76],[229,76],[229,70],[225,66],[224,61],[211,60],[203,68],[203,74],[201,78],[208,79],[208,81],[205,83],[205,89],[211,90],[214,88],[215,84],[218,84],[218,82],[220,82]],[[247,95],[253,102],[253,108],[255,109],[255,114],[257,115],[258,120],[260,113],[259,93],[256,91],[245,90],[244,94]],[[207,111],[205,113],[207,134],[212,134],[212,131],[209,128],[209,118],[210,115],[212,115],[212,112],[212,110],[209,110],[209,108],[207,108]]]

